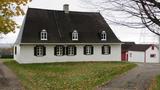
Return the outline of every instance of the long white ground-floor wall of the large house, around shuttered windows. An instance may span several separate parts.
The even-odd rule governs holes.
[[[121,44],[113,44],[111,46],[110,55],[102,55],[101,46],[93,45],[94,54],[84,55],[83,47],[85,45],[76,45],[76,56],[54,56],[55,45],[45,45],[46,56],[34,56],[35,45],[21,45],[20,53],[15,56],[15,60],[19,63],[48,63],[48,62],[77,62],[77,61],[121,61]]]

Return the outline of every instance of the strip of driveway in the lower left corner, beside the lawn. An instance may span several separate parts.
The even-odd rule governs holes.
[[[23,90],[17,77],[1,61],[0,90]]]

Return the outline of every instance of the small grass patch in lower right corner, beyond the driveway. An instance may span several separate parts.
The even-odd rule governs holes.
[[[150,90],[160,90],[160,75],[152,81]]]

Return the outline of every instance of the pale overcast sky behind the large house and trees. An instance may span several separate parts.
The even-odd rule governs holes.
[[[81,2],[80,0],[32,0],[27,7],[25,7],[25,11],[28,7],[32,8],[44,8],[44,9],[52,9],[52,10],[62,10],[63,4],[69,4],[71,11],[85,11],[85,12],[96,12],[99,11],[97,9],[91,9],[86,7],[86,3]],[[112,13],[109,13],[112,14]],[[106,17],[102,13],[103,17]],[[108,17],[106,17],[108,18]],[[23,21],[23,17],[15,17],[14,20],[17,21],[19,25],[21,25]],[[109,22],[108,22],[109,23]],[[110,27],[116,34],[116,36],[121,41],[134,41],[136,43],[157,43],[157,36],[149,32],[148,30],[142,29],[131,29],[124,26],[118,26],[112,23],[109,23]],[[19,29],[16,30],[16,33],[9,33],[8,35],[0,37],[0,43],[14,43],[17,35],[19,33]]]

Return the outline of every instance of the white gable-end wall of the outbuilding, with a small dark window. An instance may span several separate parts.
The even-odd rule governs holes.
[[[155,54],[156,56],[151,58],[151,54]],[[157,47],[154,47],[154,50],[152,50],[152,47],[146,50],[146,63],[159,63],[159,52]]]

